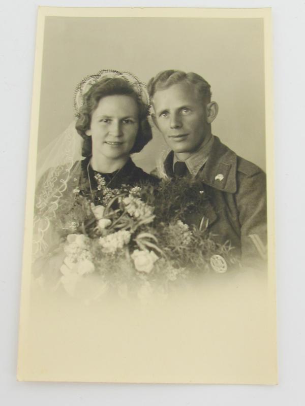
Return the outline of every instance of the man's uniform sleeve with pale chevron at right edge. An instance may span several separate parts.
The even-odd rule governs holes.
[[[238,173],[237,177],[242,263],[262,264],[267,259],[266,175],[259,170],[252,175]]]

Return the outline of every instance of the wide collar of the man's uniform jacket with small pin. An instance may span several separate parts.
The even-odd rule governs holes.
[[[170,177],[173,176],[173,156],[173,151],[171,151],[164,161],[164,170]],[[214,136],[214,142],[211,146],[208,159],[197,174],[197,177],[203,183],[215,189],[235,193],[237,190],[236,172],[237,155],[230,148],[222,144],[218,137]]]

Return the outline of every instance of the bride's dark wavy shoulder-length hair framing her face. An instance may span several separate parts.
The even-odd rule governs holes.
[[[84,140],[82,156],[92,155],[92,137],[86,135],[86,131],[90,128],[92,114],[103,97],[112,95],[126,95],[132,97],[136,101],[139,109],[139,129],[130,153],[140,152],[153,138],[151,127],[147,120],[149,109],[148,106],[143,103],[139,94],[127,80],[118,77],[106,77],[94,83],[83,95],[83,105],[79,109],[75,124],[77,132]]]

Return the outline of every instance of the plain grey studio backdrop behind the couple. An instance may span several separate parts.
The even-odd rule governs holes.
[[[147,83],[159,71],[196,72],[211,85],[219,115],[212,132],[265,170],[263,21],[231,18],[47,17],[38,153],[74,119],[78,82],[101,69]],[[166,145],[154,139],[133,159],[149,172]]]

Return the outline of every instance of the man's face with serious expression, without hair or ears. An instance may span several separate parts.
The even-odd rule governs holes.
[[[168,146],[177,154],[195,152],[210,132],[206,106],[196,93],[194,85],[180,82],[153,97],[154,121]]]

